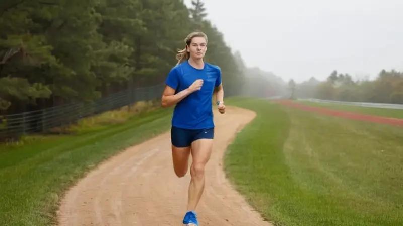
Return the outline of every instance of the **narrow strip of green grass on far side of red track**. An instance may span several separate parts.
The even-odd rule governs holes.
[[[361,113],[361,114],[366,114],[366,115],[403,119],[403,110],[397,110],[397,109],[381,109],[381,108],[372,108],[372,107],[359,107],[359,106],[343,105],[343,104],[316,103],[316,102],[310,102],[310,101],[304,101],[304,100],[297,100],[295,102],[303,103],[305,105],[313,106],[313,107],[325,107],[325,108],[334,109],[334,110],[350,111],[350,112],[356,112],[356,113]]]

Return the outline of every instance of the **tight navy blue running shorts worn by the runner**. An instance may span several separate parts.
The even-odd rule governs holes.
[[[171,142],[175,147],[189,147],[198,139],[213,139],[214,127],[207,129],[182,129],[171,127]]]

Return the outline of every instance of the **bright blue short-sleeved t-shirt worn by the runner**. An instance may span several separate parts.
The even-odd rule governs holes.
[[[175,89],[176,94],[189,88],[197,79],[203,79],[203,86],[176,104],[172,126],[184,129],[214,127],[212,97],[214,87],[221,84],[221,69],[218,66],[205,62],[203,69],[196,69],[184,61],[171,69],[165,83]]]

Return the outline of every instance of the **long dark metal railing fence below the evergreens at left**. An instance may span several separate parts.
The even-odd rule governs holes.
[[[115,110],[138,101],[155,100],[161,97],[163,88],[164,84],[126,89],[91,102],[69,103],[37,111],[0,116],[0,140],[19,137],[23,134],[45,132],[55,127],[70,125],[81,118]]]

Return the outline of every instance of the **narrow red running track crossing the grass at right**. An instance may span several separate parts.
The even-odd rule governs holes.
[[[317,112],[323,115],[328,115],[328,116],[337,116],[337,117],[342,117],[346,119],[353,119],[353,120],[360,120],[360,121],[366,121],[366,122],[372,122],[372,123],[381,123],[381,124],[389,124],[393,126],[403,126],[403,119],[397,119],[397,118],[387,118],[387,117],[381,117],[381,116],[372,116],[372,115],[365,115],[365,114],[359,114],[359,113],[354,113],[354,112],[348,112],[348,111],[339,111],[339,110],[332,110],[324,107],[312,107],[308,106],[305,104],[301,103],[295,103],[290,100],[277,100],[275,101],[277,103],[280,103],[285,106],[305,110],[305,111],[312,111],[312,112]]]

